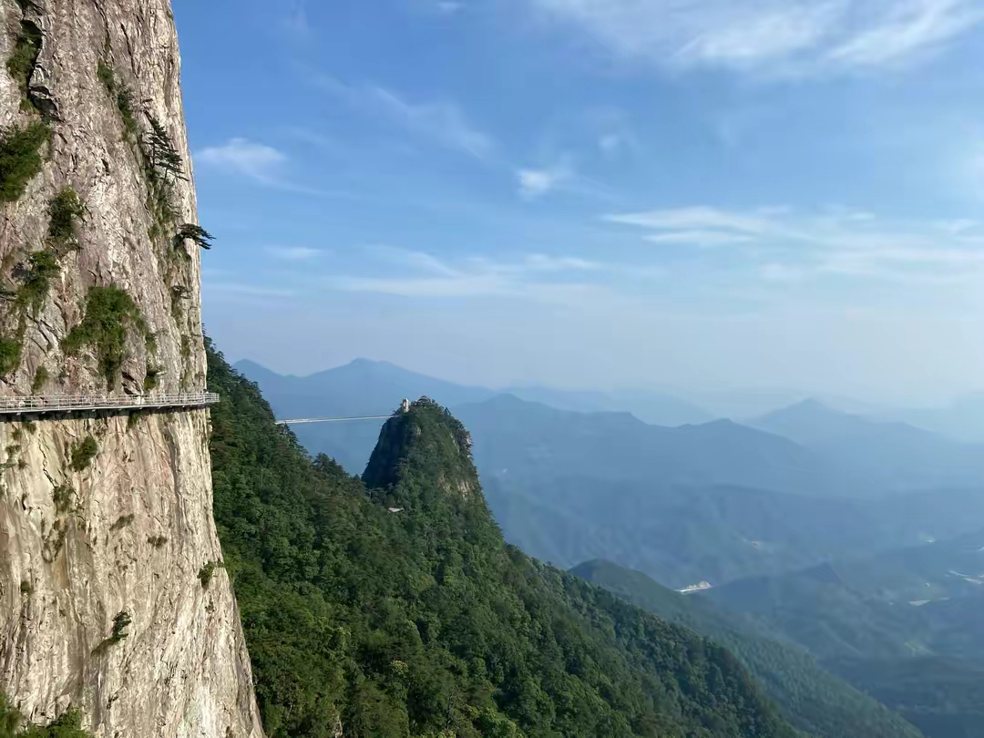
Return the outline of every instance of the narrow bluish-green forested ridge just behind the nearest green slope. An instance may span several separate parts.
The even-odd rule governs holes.
[[[818,738],[915,738],[919,730],[892,710],[824,671],[802,647],[702,597],[685,596],[645,574],[605,561],[572,570],[671,623],[693,628],[731,650],[793,725]]]

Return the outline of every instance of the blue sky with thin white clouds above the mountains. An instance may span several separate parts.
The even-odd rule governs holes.
[[[982,2],[173,4],[232,358],[984,386]]]

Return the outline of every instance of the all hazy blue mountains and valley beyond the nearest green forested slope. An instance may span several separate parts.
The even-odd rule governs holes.
[[[729,646],[801,729],[984,737],[979,444],[819,400],[737,423],[648,397],[647,418],[692,421],[672,426],[628,395],[502,393],[368,361],[238,367],[280,417],[451,405],[508,541]],[[359,471],[379,423],[295,430]]]

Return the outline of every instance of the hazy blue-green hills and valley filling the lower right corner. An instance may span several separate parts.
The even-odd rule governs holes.
[[[930,738],[984,736],[984,531],[691,596],[809,649]]]

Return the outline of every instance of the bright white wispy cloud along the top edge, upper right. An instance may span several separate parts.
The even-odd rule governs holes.
[[[671,69],[814,74],[924,58],[984,21],[976,0],[528,0]]]

